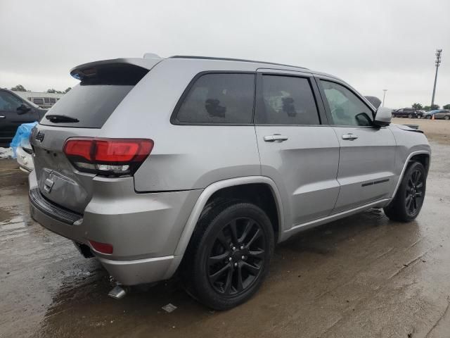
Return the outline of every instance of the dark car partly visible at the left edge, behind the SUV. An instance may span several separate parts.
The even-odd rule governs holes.
[[[0,89],[0,146],[9,146],[19,125],[41,120],[46,111],[11,90]]]

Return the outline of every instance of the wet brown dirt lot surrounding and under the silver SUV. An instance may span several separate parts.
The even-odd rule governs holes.
[[[176,280],[108,298],[105,270],[30,219],[27,175],[0,160],[0,337],[450,337],[450,122],[397,122],[432,140],[417,220],[371,210],[299,234],[277,246],[256,296],[226,312]]]

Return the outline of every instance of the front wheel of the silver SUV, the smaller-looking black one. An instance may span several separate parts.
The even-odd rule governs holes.
[[[422,163],[411,163],[401,179],[394,199],[384,208],[387,217],[399,222],[414,220],[422,208],[426,185],[427,177]]]

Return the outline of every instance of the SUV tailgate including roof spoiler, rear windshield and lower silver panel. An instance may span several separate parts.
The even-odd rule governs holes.
[[[134,86],[161,60],[115,59],[72,69],[81,82],[65,94],[30,135],[39,190],[45,199],[84,213],[95,173],[80,172],[63,147],[70,137],[97,137],[103,124]]]

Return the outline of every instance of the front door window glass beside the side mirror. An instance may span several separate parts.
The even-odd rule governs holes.
[[[335,125],[371,125],[372,111],[341,84],[321,80]]]

